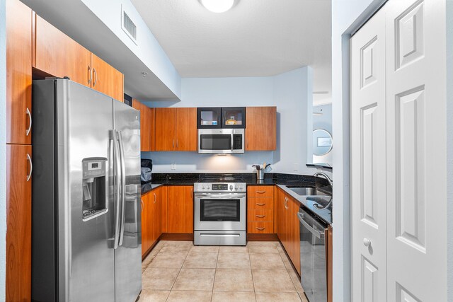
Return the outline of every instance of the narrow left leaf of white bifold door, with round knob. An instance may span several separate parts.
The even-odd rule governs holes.
[[[352,298],[386,300],[385,13],[350,40]]]

